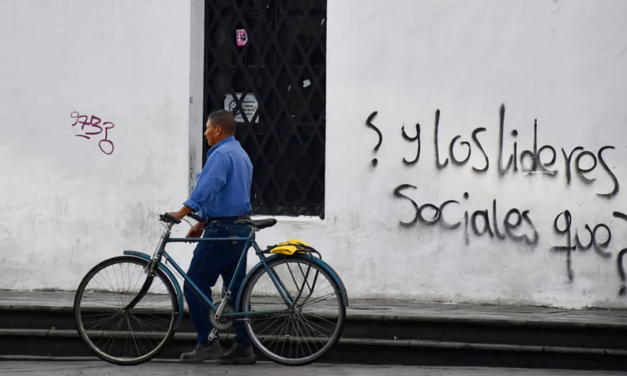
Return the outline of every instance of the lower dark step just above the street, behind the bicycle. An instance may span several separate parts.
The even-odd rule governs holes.
[[[232,336],[221,336],[229,346]],[[178,333],[152,361],[176,361],[193,348],[194,333]],[[75,330],[0,330],[0,360],[95,360]],[[259,361],[267,361],[257,352]],[[429,340],[342,338],[321,363],[627,371],[627,350]]]

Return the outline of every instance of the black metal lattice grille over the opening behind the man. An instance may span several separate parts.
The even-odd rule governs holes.
[[[255,214],[324,218],[326,0],[208,0],[205,9],[205,119],[221,108],[236,115]]]

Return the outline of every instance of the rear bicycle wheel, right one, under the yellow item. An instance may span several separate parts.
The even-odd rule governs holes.
[[[305,257],[268,262],[250,277],[242,294],[242,312],[252,343],[266,357],[285,365],[305,365],[323,356],[340,338],[346,307],[335,279]],[[274,277],[274,278],[273,278]],[[273,282],[291,301],[288,304]],[[259,315],[259,312],[268,312]],[[255,314],[257,313],[257,314]]]

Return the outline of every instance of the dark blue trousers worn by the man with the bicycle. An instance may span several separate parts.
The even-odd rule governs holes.
[[[210,222],[205,228],[203,238],[247,238],[250,235],[250,227],[234,222],[235,220]],[[244,277],[246,277],[246,257],[242,260],[237,275],[235,273],[245,244],[245,240],[222,240],[199,242],[196,246],[187,276],[212,302],[211,288],[215,286],[218,277],[222,276],[224,290],[228,289],[229,284],[233,281],[229,304],[235,309],[234,303],[237,299],[237,293]],[[213,325],[209,321],[209,307],[196,295],[188,282],[185,282],[184,293],[192,323],[198,333],[198,343],[207,344],[209,333],[213,330]],[[250,339],[244,328],[244,323],[236,321],[233,323],[233,328],[235,340],[243,346],[250,346]]]

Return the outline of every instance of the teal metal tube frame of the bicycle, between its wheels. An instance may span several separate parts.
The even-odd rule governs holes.
[[[247,257],[248,250],[252,247],[255,250],[255,253],[257,254],[257,256],[259,257],[261,265],[263,265],[263,267],[265,267],[265,269],[268,271],[268,275],[270,276],[270,279],[274,283],[274,286],[277,288],[277,291],[279,292],[279,295],[281,296],[281,298],[285,302],[286,307],[291,307],[293,299],[290,296],[290,294],[289,294],[287,288],[285,287],[285,285],[283,284],[283,282],[280,280],[280,278],[278,278],[275,275],[274,271],[268,267],[268,264],[266,262],[266,257],[263,255],[263,251],[261,250],[261,248],[259,248],[259,245],[255,241],[255,229],[254,228],[251,228],[250,235],[247,238],[170,238],[170,232],[171,232],[173,226],[174,226],[173,223],[169,223],[169,224],[167,224],[165,226],[166,228],[163,231],[163,234],[161,235],[161,239],[159,241],[159,245],[157,246],[157,249],[155,250],[152,258],[150,259],[150,264],[147,266],[147,272],[148,273],[153,274],[155,267],[157,267],[160,264],[164,265],[164,263],[161,262],[161,259],[165,257],[166,263],[169,263],[172,266],[172,268],[176,271],[176,273],[185,280],[185,283],[188,284],[189,287],[191,287],[192,290],[194,290],[194,292],[201,298],[201,300],[205,304],[207,304],[207,306],[209,306],[215,312],[215,318],[216,319],[220,319],[220,318],[241,319],[243,317],[276,315],[276,314],[280,314],[280,313],[285,312],[285,310],[283,310],[283,311],[256,311],[256,312],[223,313],[224,309],[226,308],[226,305],[228,304],[228,300],[231,298],[231,293],[232,293],[232,289],[233,289],[234,280],[231,280],[230,285],[226,289],[226,296],[222,299],[222,301],[220,303],[220,306],[216,307],[215,304],[213,304],[213,302],[200,290],[200,288],[198,286],[196,286],[196,284],[187,276],[187,274],[176,263],[176,261],[174,261],[172,256],[170,256],[166,252],[166,250],[165,250],[165,246],[168,243],[183,243],[183,242],[200,243],[200,242],[218,242],[218,241],[246,241],[246,243],[244,244],[244,249],[242,250],[242,255],[240,256],[239,262],[237,264],[237,268],[235,269],[235,274],[237,274],[238,272],[241,271],[241,268],[244,265],[242,263],[242,260],[245,257]],[[243,288],[243,287],[244,287],[244,284],[242,284],[242,286],[240,286],[240,289]],[[235,307],[233,307],[233,308],[235,308]]]

